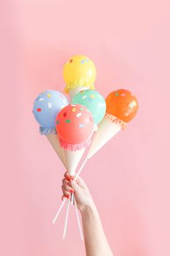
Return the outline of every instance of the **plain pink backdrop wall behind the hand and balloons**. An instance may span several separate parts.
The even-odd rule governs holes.
[[[85,255],[73,208],[66,241],[65,214],[51,223],[64,169],[32,103],[45,89],[62,91],[64,62],[86,54],[104,97],[128,88],[140,105],[82,173],[109,243],[115,256],[170,255],[168,1],[6,0],[0,10],[0,254]]]

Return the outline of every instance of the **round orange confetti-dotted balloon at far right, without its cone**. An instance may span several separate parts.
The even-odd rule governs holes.
[[[132,120],[138,111],[137,98],[130,90],[115,90],[106,98],[107,113],[125,121]]]

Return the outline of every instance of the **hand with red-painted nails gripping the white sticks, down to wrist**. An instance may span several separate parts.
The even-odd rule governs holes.
[[[68,171],[64,174],[64,177],[65,179],[63,179],[62,185],[63,197],[69,198],[71,196],[70,193],[73,193],[76,199],[77,208],[79,208],[81,212],[87,207],[94,205],[89,189],[86,187],[86,184],[81,177],[78,177],[75,181],[73,176],[69,176]]]

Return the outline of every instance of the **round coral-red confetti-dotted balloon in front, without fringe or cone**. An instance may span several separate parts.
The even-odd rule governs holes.
[[[76,104],[63,108],[56,117],[56,130],[61,140],[69,144],[81,144],[89,140],[94,128],[91,112]]]

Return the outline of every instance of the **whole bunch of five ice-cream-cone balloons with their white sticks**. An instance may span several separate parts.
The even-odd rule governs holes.
[[[126,129],[128,121],[133,119],[138,111],[138,101],[129,90],[115,90],[104,100],[103,96],[94,89],[96,73],[93,61],[87,56],[72,56],[63,67],[65,92],[71,102],[68,102],[63,93],[46,90],[37,96],[32,111],[40,124],[40,134],[47,137],[70,176],[76,175],[75,179],[81,173],[86,161],[117,132]],[[93,139],[91,139],[92,135]],[[76,173],[88,146],[89,151],[84,163]],[[65,202],[66,197],[53,223],[57,220]],[[75,205],[83,240],[79,211],[73,193],[68,199],[63,239],[66,237],[70,203]]]

